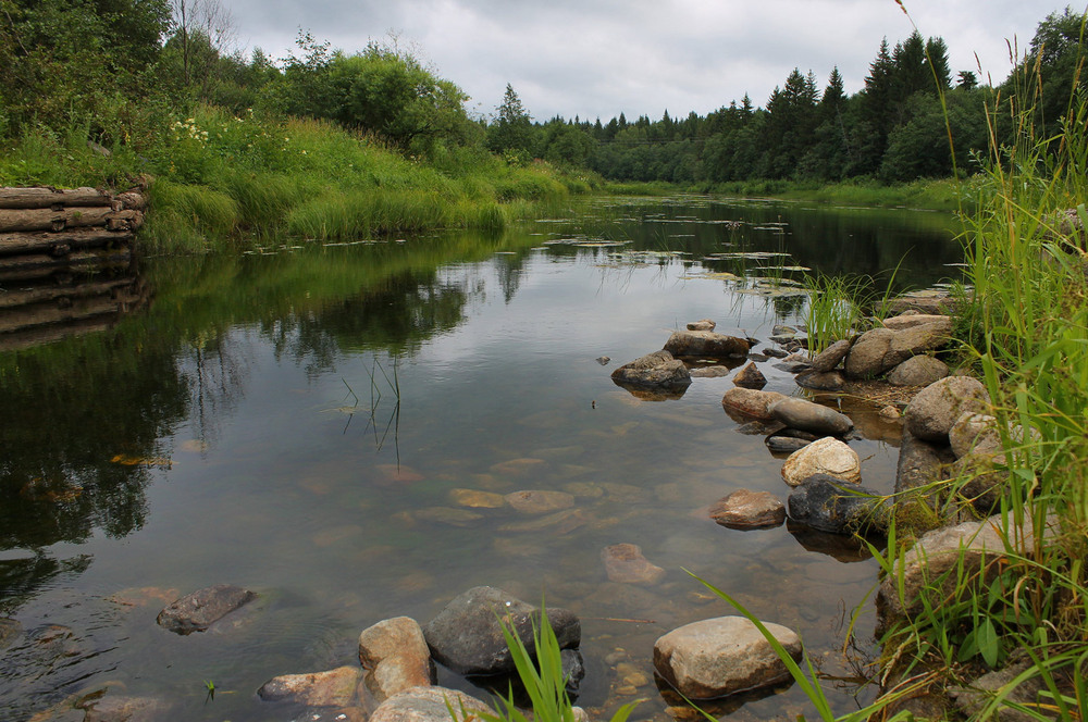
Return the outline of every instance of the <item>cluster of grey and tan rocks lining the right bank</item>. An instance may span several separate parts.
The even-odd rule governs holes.
[[[920,536],[880,585],[881,624],[915,613],[922,589],[956,564],[980,569],[986,560],[992,562],[1010,551],[1030,553],[1033,544],[1024,530],[1011,531],[1010,543],[1000,532],[1001,519],[986,518],[1009,493],[1001,432],[1024,439],[1031,430],[999,428],[985,386],[950,371],[937,358],[951,340],[953,326],[940,302],[923,309],[911,308],[910,299],[899,304],[899,315],[812,358],[803,352],[805,339],[795,328],[776,327],[774,345],[755,351],[756,339],[713,334],[713,322],[702,321],[689,324],[688,332],[673,333],[663,351],[613,373],[617,384],[654,398],[646,389],[664,375],[665,364],[669,378],[680,379],[687,388],[692,377],[725,375],[713,369],[728,371],[746,361],[732,377],[734,386],[724,395],[722,407],[741,431],[762,434],[768,449],[786,456],[781,476],[791,490],[783,505],[768,491],[735,489],[710,508],[710,518],[735,530],[777,526],[788,520],[817,534],[871,537],[883,535],[894,515],[900,528]],[[824,402],[763,390],[766,376],[758,366],[768,362],[793,374],[799,387]],[[879,416],[901,428],[894,495],[862,485],[862,462],[850,448],[860,435],[852,420],[834,408],[842,393],[891,401],[882,403]],[[951,478],[964,481],[939,484]],[[930,527],[936,528],[922,535]],[[1048,527],[1046,534],[1052,531]],[[977,575],[977,584],[987,578]],[[710,622],[689,625],[694,627],[689,633],[700,638],[704,656],[721,662],[728,656],[705,631]],[[783,646],[794,653],[784,642]],[[668,648],[666,644],[655,649],[655,662],[669,658]],[[754,652],[743,656],[757,664]],[[698,697],[709,692],[695,674],[660,667],[658,671],[684,694]]]

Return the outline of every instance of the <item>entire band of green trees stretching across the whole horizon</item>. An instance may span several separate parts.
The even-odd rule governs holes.
[[[541,159],[608,179],[706,188],[970,172],[991,130],[999,140],[1013,130],[1002,103],[1026,98],[1037,127],[1059,129],[1080,77],[1085,24],[1068,8],[1048,15],[996,86],[951,69],[942,38],[914,33],[881,40],[851,96],[838,69],[823,87],[795,69],[763,107],[745,95],[706,115],[603,123],[534,121],[509,85],[494,115],[471,117],[460,88],[395,38],[346,52],[300,32],[286,58],[243,55],[218,0],[0,0],[0,138],[82,134],[154,161],[161,138],[201,104],[239,117],[322,119],[440,167],[470,148],[515,165]]]

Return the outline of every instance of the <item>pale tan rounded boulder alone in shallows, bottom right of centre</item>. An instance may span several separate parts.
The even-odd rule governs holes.
[[[780,624],[764,626],[794,659],[801,638]],[[766,687],[790,679],[790,671],[755,624],[743,617],[692,622],[654,644],[654,668],[680,694],[712,699]]]

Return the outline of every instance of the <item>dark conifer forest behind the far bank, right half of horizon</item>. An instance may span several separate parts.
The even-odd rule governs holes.
[[[883,40],[864,88],[845,95],[838,69],[820,87],[800,69],[764,108],[749,96],[698,115],[657,121],[623,114],[602,124],[554,117],[533,123],[507,86],[489,128],[500,152],[590,167],[606,178],[712,185],[752,179],[904,182],[974,169],[991,135],[1011,142],[1012,120],[1034,109],[1037,130],[1056,135],[1085,58],[1085,16],[1066,8],[1038,26],[1027,53],[1000,85],[953,77],[940,37]],[[992,130],[992,133],[991,133]],[[952,144],[949,142],[951,137]],[[955,157],[951,147],[955,148]]]

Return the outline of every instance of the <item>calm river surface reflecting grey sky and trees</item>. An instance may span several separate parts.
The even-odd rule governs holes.
[[[802,267],[899,265],[901,288],[956,276],[952,219],[695,198],[560,215],[500,237],[147,260],[143,312],[0,353],[0,719],[82,719],[65,700],[108,687],[168,700],[170,719],[289,720],[256,698],[263,682],[355,663],[362,628],[426,622],[482,584],[581,617],[580,702],[603,715],[633,698],[622,677],[652,680],[660,634],[733,613],[683,569],[854,676],[874,652],[870,602],[840,648],[876,563],[707,518],[735,488],[789,490],[781,459],[724,413],[729,378],[651,401],[609,373],[689,321],[762,339],[796,323]],[[891,490],[898,430],[853,413],[864,482]],[[565,490],[576,506],[531,516],[461,506],[460,489]],[[622,542],[664,581],[609,582],[601,551]],[[203,634],[154,624],[224,582],[260,597]],[[855,705],[849,679],[826,684]],[[668,719],[652,681],[636,695],[635,719]],[[794,688],[715,711],[805,707]]]

